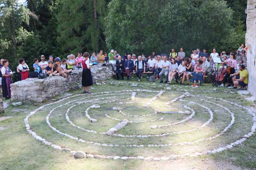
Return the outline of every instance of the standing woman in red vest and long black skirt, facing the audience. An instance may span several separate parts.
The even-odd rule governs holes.
[[[81,61],[81,66],[83,68],[82,74],[82,86],[84,88],[83,93],[91,94],[89,91],[89,86],[93,85],[93,77],[90,68],[93,66],[90,64],[89,53],[85,52],[83,54],[84,59]]]

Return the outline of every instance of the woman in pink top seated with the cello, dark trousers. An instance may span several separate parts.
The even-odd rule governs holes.
[[[230,53],[230,58],[223,62],[223,64],[227,64],[227,73],[224,76],[223,83],[221,87],[224,87],[228,82],[228,86],[232,86],[233,81],[230,78],[230,74],[234,74],[236,72],[237,62],[236,62],[236,54]]]

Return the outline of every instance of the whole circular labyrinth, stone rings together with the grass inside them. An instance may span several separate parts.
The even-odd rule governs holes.
[[[236,147],[255,132],[256,115],[221,98],[136,89],[69,96],[24,124],[45,147],[78,158],[164,161]]]

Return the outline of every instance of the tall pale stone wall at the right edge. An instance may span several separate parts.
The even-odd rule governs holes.
[[[249,72],[248,91],[256,98],[256,0],[247,1],[247,70]]]

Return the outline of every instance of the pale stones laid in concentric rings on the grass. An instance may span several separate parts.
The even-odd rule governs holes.
[[[148,91],[148,90],[140,90],[140,89],[137,89],[137,90],[127,90],[127,91],[112,91],[112,92],[100,92],[100,93],[94,93],[94,94],[97,94],[96,96],[93,96],[94,94],[91,94],[91,96],[87,96],[87,97],[84,97],[84,98],[81,98],[81,99],[74,99],[74,100],[70,100],[69,98],[73,98],[73,97],[76,97],[76,96],[82,96],[84,94],[79,94],[79,95],[74,95],[74,96],[69,96],[67,97],[66,99],[61,99],[59,101],[56,101],[56,102],[53,102],[53,103],[50,103],[50,104],[47,104],[47,105],[44,105],[44,106],[41,106],[40,108],[36,109],[35,111],[29,113],[29,115],[26,116],[26,118],[24,119],[24,123],[25,123],[25,127],[26,127],[26,130],[28,133],[30,133],[36,140],[40,141],[40,142],[43,142],[44,144],[46,145],[49,145],[55,149],[58,149],[58,150],[65,150],[65,151],[69,151],[70,153],[72,153],[73,155],[77,155],[77,157],[87,157],[87,158],[96,158],[96,159],[113,159],[113,160],[116,160],[116,159],[122,159],[122,160],[128,160],[128,159],[138,159],[138,160],[147,160],[147,161],[167,161],[167,160],[170,160],[170,159],[179,159],[179,158],[184,158],[184,157],[195,157],[195,156],[201,156],[201,155],[207,155],[207,154],[212,154],[212,153],[219,153],[219,152],[222,152],[224,150],[228,150],[228,149],[231,149],[232,147],[235,147],[237,145],[240,145],[242,144],[245,140],[247,140],[248,138],[250,138],[250,136],[252,136],[255,131],[256,131],[256,114],[255,114],[255,111],[251,110],[250,108],[246,108],[244,106],[241,106],[241,105],[238,105],[234,102],[231,102],[231,101],[227,101],[227,100],[224,100],[224,99],[221,99],[221,98],[212,98],[212,97],[207,97],[207,96],[193,96],[191,94],[189,94],[188,92],[174,98],[174,99],[170,99],[169,102],[166,102],[166,107],[171,107],[172,104],[174,104],[176,101],[181,101],[181,102],[186,102],[188,103],[189,105],[198,105],[200,106],[202,109],[205,109],[207,110],[207,112],[209,113],[209,119],[207,120],[207,122],[205,122],[204,124],[202,124],[201,126],[199,127],[196,127],[194,129],[190,129],[190,130],[184,130],[184,131],[180,131],[180,132],[175,132],[175,133],[162,133],[162,134],[159,134],[159,135],[151,135],[151,134],[148,134],[148,135],[145,135],[145,134],[138,134],[138,135],[121,135],[121,134],[114,134],[117,130],[125,127],[125,126],[128,126],[127,125],[127,122],[126,120],[124,120],[123,122],[119,123],[118,125],[116,125],[115,127],[111,128],[110,130],[108,130],[107,133],[100,133],[100,134],[108,134],[108,135],[111,135],[111,136],[118,136],[118,137],[137,137],[137,138],[147,138],[147,137],[163,137],[163,136],[167,136],[167,135],[172,135],[172,134],[180,134],[180,133],[190,133],[194,130],[199,130],[203,127],[206,127],[208,126],[211,122],[212,122],[212,119],[213,119],[213,113],[211,111],[210,108],[207,107],[207,103],[209,103],[209,105],[215,105],[215,107],[220,107],[222,110],[226,110],[228,113],[230,113],[230,117],[231,117],[231,122],[229,123],[229,125],[227,125],[226,127],[224,127],[224,130],[221,131],[221,133],[218,133],[216,134],[215,136],[211,136],[211,137],[207,137],[207,138],[201,138],[201,139],[198,139],[196,141],[189,141],[189,142],[178,142],[178,143],[163,143],[163,144],[155,144],[155,143],[152,143],[152,144],[148,144],[148,145],[143,145],[143,144],[123,144],[123,145],[118,145],[116,143],[112,143],[112,144],[109,144],[107,143],[96,143],[96,142],[92,142],[92,141],[85,141],[83,139],[80,139],[80,138],[77,138],[75,136],[71,136],[70,134],[67,134],[67,133],[64,133],[64,132],[61,132],[60,130],[58,130],[56,127],[54,127],[51,123],[50,123],[50,119],[49,117],[51,116],[51,114],[55,111],[55,110],[58,110],[58,108],[61,108],[65,105],[69,105],[71,103],[74,103],[74,102],[79,102],[80,100],[83,100],[83,99],[88,99],[88,98],[95,98],[93,100],[87,100],[87,101],[83,101],[83,102],[80,102],[80,103],[77,103],[77,104],[81,104],[81,103],[84,103],[84,102],[90,102],[90,103],[97,103],[96,101],[99,100],[99,101],[102,101],[102,99],[104,98],[97,98],[97,96],[108,96],[108,95],[113,95],[113,94],[120,94],[122,92],[131,92],[132,94],[132,97],[129,98],[129,99],[134,99],[135,97],[135,92],[136,93],[139,93],[140,91],[142,92],[148,92],[148,93],[158,93],[156,96],[154,96],[152,99],[149,100],[149,102],[145,102],[144,103],[144,107],[148,107],[152,102],[154,102],[156,99],[158,99],[163,93],[164,91]],[[100,94],[100,95],[98,95]],[[184,100],[183,98],[192,98],[194,97],[193,101],[197,101],[197,102],[191,102],[191,101],[187,101],[187,100]],[[201,102],[203,102],[204,104],[202,104],[200,101],[198,100],[195,100],[196,99],[201,99]],[[129,99],[125,99],[125,100],[129,100]],[[206,100],[207,99],[207,100]],[[219,144],[218,146],[216,146],[216,148],[210,148],[209,150],[202,150],[202,151],[199,151],[199,152],[189,152],[186,153],[186,154],[183,154],[183,155],[171,155],[171,156],[162,156],[162,157],[152,157],[150,155],[148,155],[148,157],[144,157],[144,156],[136,156],[136,157],[132,157],[132,156],[109,156],[109,155],[92,155],[92,154],[87,154],[86,152],[84,151],[75,151],[75,150],[72,150],[70,148],[66,148],[63,146],[63,144],[60,144],[62,147],[60,147],[60,145],[58,144],[52,144],[51,142],[48,142],[47,140],[49,139],[43,139],[41,136],[39,136],[38,134],[36,134],[30,127],[29,125],[29,118],[31,116],[33,116],[34,114],[36,114],[37,112],[41,111],[41,110],[44,110],[44,108],[47,108],[48,106],[50,105],[54,105],[54,104],[57,104],[59,102],[62,102],[64,100],[67,100],[69,102],[67,103],[64,103],[62,105],[58,105],[57,107],[55,108],[52,108],[50,111],[49,111],[49,114],[47,115],[46,117],[46,122],[47,124],[49,125],[49,127],[55,131],[56,133],[59,133],[63,136],[67,136],[68,138],[70,139],[73,139],[75,141],[78,141],[78,142],[81,142],[81,143],[87,143],[87,144],[94,144],[94,145],[99,145],[99,146],[102,146],[102,147],[170,147],[170,146],[181,146],[181,145],[186,145],[186,144],[198,144],[199,142],[203,142],[203,141],[206,141],[206,140],[213,140],[215,138],[217,138],[218,136],[222,136],[224,135],[224,133],[227,132],[227,130],[229,128],[232,127],[232,125],[234,124],[235,122],[235,117],[234,117],[234,113],[232,111],[230,111],[228,108],[226,108],[224,105],[221,105],[221,104],[218,104],[218,103],[214,103],[214,102],[211,102],[211,101],[208,101],[208,99],[214,99],[214,100],[218,100],[218,101],[222,101],[222,102],[225,102],[226,104],[229,104],[229,105],[232,105],[233,107],[239,107],[241,109],[244,109],[245,112],[249,113],[251,118],[252,118],[252,122],[253,122],[253,125],[250,127],[250,132],[244,134],[243,136],[237,136],[233,142],[231,143],[224,143],[224,144]],[[119,101],[118,99],[116,100],[112,100],[111,102],[117,102]],[[109,101],[108,101],[109,102]],[[102,102],[102,103],[108,103],[108,102]],[[101,104],[102,104],[101,103]],[[71,106],[70,108],[67,109],[67,113],[70,111],[70,109],[72,107],[75,107],[76,105],[73,105]],[[98,106],[98,107],[97,107]],[[94,104],[94,105],[91,105],[89,108],[100,108],[99,105],[97,104]],[[89,108],[87,108],[86,110],[86,116],[87,118],[90,120],[90,123],[93,122],[91,121],[93,118],[90,118],[89,114],[88,114],[88,110]],[[192,109],[192,108],[189,108],[188,106],[185,106],[184,105],[184,108],[187,108],[190,110],[190,113],[192,113],[189,117],[187,117],[186,119],[180,121],[180,122],[177,122],[177,124],[180,124],[180,123],[184,123],[186,122],[187,120],[189,119],[192,119],[194,118],[195,116],[195,111]],[[120,109],[116,109],[116,110],[119,110]],[[73,124],[68,115],[66,113],[66,118],[67,118],[67,121],[71,123],[71,125],[73,125],[74,127],[77,127],[81,130],[83,130],[81,127]],[[181,112],[180,112],[181,113]],[[185,113],[185,112],[184,112]],[[104,113],[103,113],[104,115]],[[102,116],[103,116],[102,115]],[[95,119],[96,120],[96,119]],[[97,121],[97,120],[96,120]],[[157,125],[156,127],[168,127],[168,126],[171,126],[171,125]],[[126,128],[126,127],[125,127]],[[153,130],[154,128],[152,128]],[[98,132],[96,131],[93,131],[93,130],[86,130],[84,129],[85,131],[87,132],[92,132],[92,133],[96,133],[96,134],[99,134]],[[136,141],[135,141],[136,142]],[[84,153],[83,153],[84,152]],[[82,154],[81,154],[82,153]]]

